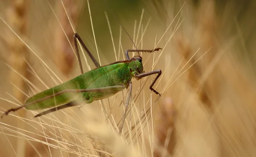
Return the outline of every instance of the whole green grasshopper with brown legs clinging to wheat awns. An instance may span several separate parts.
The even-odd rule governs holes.
[[[121,132],[125,121],[128,104],[131,98],[131,78],[136,78],[137,80],[139,80],[145,76],[157,74],[157,77],[151,83],[149,89],[152,90],[154,93],[160,95],[160,93],[158,93],[152,87],[157,81],[157,78],[159,78],[162,73],[161,70],[154,70],[145,73],[143,71],[142,57],[134,56],[130,59],[128,52],[151,53],[154,51],[158,51],[161,48],[156,48],[154,50],[126,50],[125,56],[127,60],[100,66],[100,64],[96,61],[88,48],[85,46],[79,34],[75,33],[73,39],[76,48],[77,58],[79,61],[81,75],[55,87],[52,87],[48,90],[45,90],[41,93],[33,95],[25,101],[25,104],[23,106],[9,109],[3,115],[8,115],[9,112],[17,111],[23,107],[29,110],[47,109],[53,107],[52,109],[35,115],[35,117],[39,117],[50,112],[57,111],[59,109],[76,106],[76,100],[74,100],[74,98],[70,96],[70,94],[72,93],[81,93],[81,96],[85,100],[84,103],[90,104],[93,101],[102,100],[104,98],[115,95],[116,93],[129,87],[128,98],[125,103],[125,111],[119,128],[119,132]],[[84,48],[84,50],[86,50],[87,54],[90,56],[96,66],[95,69],[90,70],[86,73],[83,72],[77,40],[81,43],[82,47]],[[3,117],[3,115],[1,116],[1,118]]]

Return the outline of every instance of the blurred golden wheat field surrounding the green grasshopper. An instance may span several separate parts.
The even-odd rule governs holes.
[[[128,89],[39,118],[10,112],[0,157],[255,157],[255,15],[254,0],[0,0],[0,114],[81,75],[75,32],[100,65],[162,48],[140,53],[145,72],[162,70],[161,96],[156,76],[133,78],[121,134]]]

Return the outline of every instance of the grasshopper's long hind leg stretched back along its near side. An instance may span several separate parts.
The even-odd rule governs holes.
[[[54,96],[61,95],[63,93],[68,93],[68,92],[70,92],[70,93],[82,93],[82,92],[119,92],[119,91],[121,91],[123,89],[124,89],[123,86],[110,86],[110,87],[93,88],[93,89],[70,89],[70,90],[63,90],[61,92],[55,93],[53,95],[46,96],[44,98],[38,99],[37,101],[33,101],[31,103],[22,105],[20,107],[9,109],[6,112],[4,112],[3,115],[1,115],[1,118],[3,118],[4,115],[8,115],[9,112],[15,112],[15,111],[17,111],[17,110],[19,110],[19,109],[21,109],[23,107],[27,107],[29,105],[33,105],[35,103],[44,101],[44,100],[46,100],[48,98],[52,98]]]

